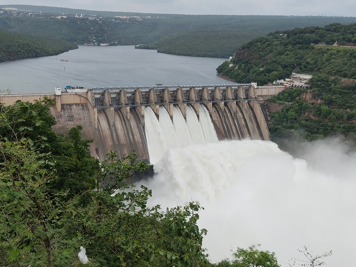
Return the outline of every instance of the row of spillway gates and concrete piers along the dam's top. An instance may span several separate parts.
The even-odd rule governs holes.
[[[156,85],[138,87],[94,87],[96,109],[109,106],[114,109],[122,107],[138,107],[169,104],[218,103],[229,101],[248,101],[247,91],[251,84],[204,84],[204,85]],[[226,97],[228,88],[231,93]],[[237,93],[242,88],[244,93]],[[217,91],[220,96],[217,96]],[[105,93],[106,92],[106,93]],[[124,93],[123,93],[124,92]],[[139,95],[137,95],[137,92]]]

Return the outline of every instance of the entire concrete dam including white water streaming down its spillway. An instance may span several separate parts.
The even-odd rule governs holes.
[[[269,140],[259,98],[278,94],[282,86],[215,84],[149,87],[67,88],[54,94],[0,95],[0,102],[56,99],[51,114],[57,133],[83,126],[93,138],[92,156],[103,160],[115,150],[119,156],[135,151],[146,163],[156,163],[167,148],[218,140]],[[161,151],[161,152],[152,152]]]

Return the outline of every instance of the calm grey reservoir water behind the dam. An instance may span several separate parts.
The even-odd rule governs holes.
[[[57,56],[0,63],[0,90],[39,93],[66,85],[89,88],[232,83],[216,76],[216,68],[225,60],[173,56],[133,46],[79,46]]]

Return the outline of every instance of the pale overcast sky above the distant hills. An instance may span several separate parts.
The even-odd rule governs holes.
[[[169,14],[356,16],[356,0],[0,0],[74,9]]]

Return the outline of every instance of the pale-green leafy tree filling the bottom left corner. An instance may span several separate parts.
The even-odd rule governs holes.
[[[69,263],[75,249],[65,235],[78,218],[78,198],[50,189],[54,163],[30,140],[0,141],[0,150],[1,266]]]

